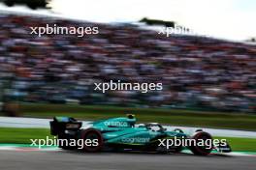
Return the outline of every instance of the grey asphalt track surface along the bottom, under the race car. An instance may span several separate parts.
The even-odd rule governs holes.
[[[3,170],[255,170],[256,157],[0,151]]]

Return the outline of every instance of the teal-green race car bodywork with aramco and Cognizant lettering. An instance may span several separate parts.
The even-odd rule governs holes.
[[[163,138],[187,137],[186,134],[166,129],[153,130],[135,126],[136,119],[113,118],[92,123],[91,128],[100,130],[106,144],[147,145]]]

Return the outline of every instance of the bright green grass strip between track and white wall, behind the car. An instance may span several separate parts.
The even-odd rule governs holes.
[[[30,139],[46,139],[49,129],[46,128],[0,128],[0,144],[31,144]],[[52,136],[50,136],[53,138]],[[214,137],[227,139],[233,151],[256,152],[256,138]]]

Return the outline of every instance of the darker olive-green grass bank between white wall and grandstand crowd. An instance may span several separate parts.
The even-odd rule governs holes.
[[[72,104],[21,104],[21,115],[26,117],[52,118],[53,116],[70,116],[82,120],[99,120],[120,117],[127,113],[135,114],[139,122],[256,130],[256,115],[241,113]]]

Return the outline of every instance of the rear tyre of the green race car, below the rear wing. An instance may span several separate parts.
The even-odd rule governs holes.
[[[81,139],[84,141],[82,150],[84,152],[95,153],[102,151],[103,136],[101,131],[95,128],[88,128],[81,131]]]

